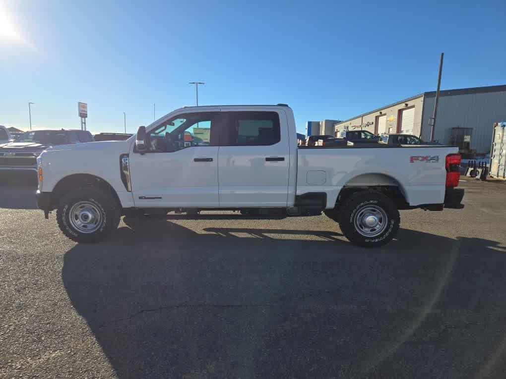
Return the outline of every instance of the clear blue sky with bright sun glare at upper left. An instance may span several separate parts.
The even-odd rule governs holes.
[[[122,131],[195,104],[289,104],[297,128],[506,84],[506,2],[0,0],[0,124]],[[8,20],[8,22],[6,22]],[[2,26],[4,25],[4,26]],[[6,26],[7,25],[7,26]]]

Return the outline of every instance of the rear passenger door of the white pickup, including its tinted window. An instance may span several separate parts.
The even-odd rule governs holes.
[[[288,123],[282,111],[222,109],[218,176],[221,207],[285,207]]]

